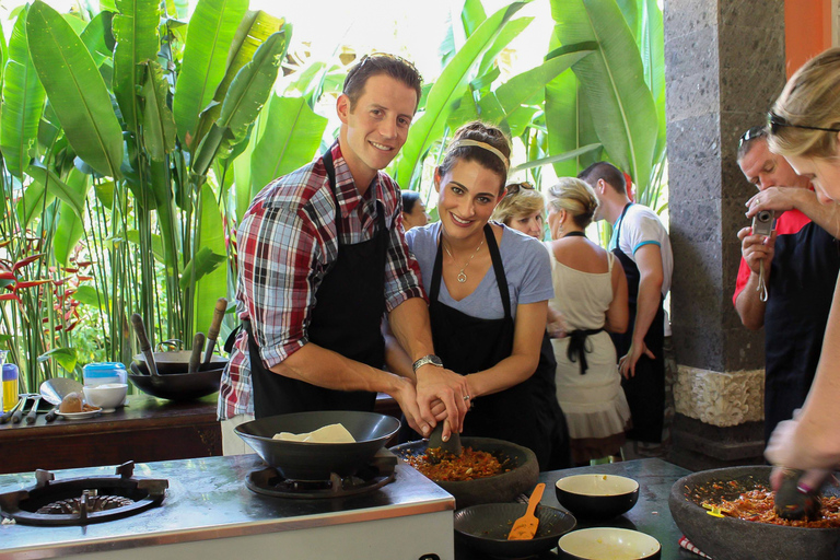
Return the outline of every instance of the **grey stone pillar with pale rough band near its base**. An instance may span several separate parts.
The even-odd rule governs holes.
[[[695,468],[761,460],[763,336],[732,294],[737,231],[755,194],[738,138],[766,120],[784,75],[784,0],[666,0],[665,79],[672,320],[680,364],[673,459]]]

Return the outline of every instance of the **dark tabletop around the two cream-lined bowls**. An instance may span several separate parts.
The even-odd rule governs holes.
[[[662,459],[638,459],[611,465],[540,472],[539,481],[546,483],[546,491],[540,503],[561,508],[555,493],[555,482],[571,475],[586,474],[619,475],[632,478],[640,486],[639,501],[632,510],[615,520],[602,523],[586,523],[579,520],[575,528],[622,527],[640,530],[660,541],[662,560],[700,560],[699,556],[679,547],[678,540],[682,536],[682,532],[677,528],[668,509],[670,487],[678,479],[689,475],[689,470]],[[472,553],[456,538],[455,558],[456,560],[479,560],[481,557]],[[557,559],[558,556],[555,552],[549,552],[539,558],[540,560],[549,560]]]

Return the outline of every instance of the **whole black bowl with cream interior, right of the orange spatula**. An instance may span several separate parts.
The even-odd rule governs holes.
[[[580,520],[605,521],[630,511],[639,501],[639,482],[617,475],[574,475],[555,483],[560,505]]]

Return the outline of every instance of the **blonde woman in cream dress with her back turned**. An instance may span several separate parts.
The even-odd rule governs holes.
[[[627,330],[627,279],[611,253],[586,238],[598,199],[586,183],[564,177],[548,189],[548,225],[553,241],[551,306],[569,331],[552,340],[557,398],[565,413],[572,458],[579,465],[618,455],[630,408],[621,389],[616,348],[608,332]]]

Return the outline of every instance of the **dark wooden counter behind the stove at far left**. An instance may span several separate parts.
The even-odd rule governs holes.
[[[47,423],[39,413],[33,424],[2,424],[0,474],[221,455],[215,401],[129,395],[128,406],[110,415]]]

